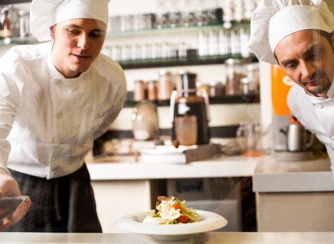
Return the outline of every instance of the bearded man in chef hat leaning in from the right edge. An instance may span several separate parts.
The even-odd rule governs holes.
[[[326,146],[334,171],[334,16],[321,0],[262,0],[249,47],[294,81],[287,104]]]

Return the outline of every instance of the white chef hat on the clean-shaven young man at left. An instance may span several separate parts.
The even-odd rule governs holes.
[[[40,41],[51,40],[49,27],[64,20],[95,19],[108,24],[110,0],[33,0],[30,31]]]

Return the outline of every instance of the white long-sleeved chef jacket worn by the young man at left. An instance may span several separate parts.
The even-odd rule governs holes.
[[[51,60],[52,44],[15,46],[0,59],[0,167],[42,178],[82,166],[127,90],[122,68],[103,54],[66,79]]]

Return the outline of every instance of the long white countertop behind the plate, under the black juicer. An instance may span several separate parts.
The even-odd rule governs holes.
[[[187,164],[135,162],[134,157],[118,157],[116,162],[87,164],[92,181],[161,178],[214,178],[253,176],[259,158],[219,156]]]

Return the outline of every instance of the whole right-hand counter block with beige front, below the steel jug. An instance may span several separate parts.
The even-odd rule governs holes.
[[[258,231],[334,231],[334,183],[328,158],[258,162],[253,192]]]

